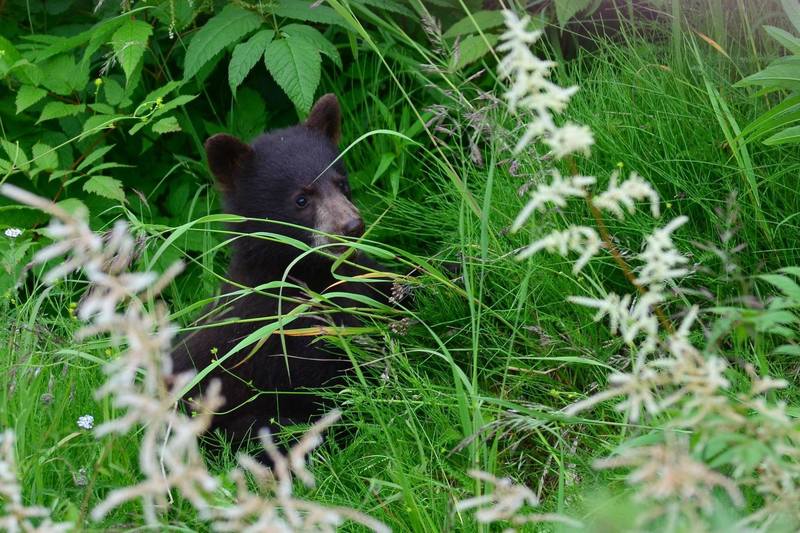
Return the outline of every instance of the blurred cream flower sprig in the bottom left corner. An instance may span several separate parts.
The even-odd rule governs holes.
[[[54,523],[50,510],[28,507],[22,502],[22,487],[17,478],[15,435],[10,429],[0,433],[0,531],[8,533],[61,533],[72,529],[67,522]],[[38,524],[35,524],[38,522]]]

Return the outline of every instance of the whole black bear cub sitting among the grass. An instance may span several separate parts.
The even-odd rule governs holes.
[[[230,283],[223,285],[224,296],[210,310],[212,318],[179,339],[172,352],[176,372],[202,371],[248,335],[308,300],[305,290],[281,290],[274,283],[244,296],[243,289],[286,280],[322,293],[336,282],[331,255],[341,253],[345,245],[331,245],[335,238],[327,235],[360,237],[364,231],[351,201],[347,172],[337,160],[340,131],[339,103],[327,94],[314,104],[305,123],[266,133],[252,144],[225,134],[206,141],[208,163],[226,212],[250,220],[231,226],[247,236],[234,241],[227,275]],[[328,254],[310,253],[300,258],[300,246],[277,242],[266,232],[320,247]],[[347,261],[353,264],[344,262],[336,274],[352,277],[364,273],[360,266],[377,268],[361,255],[351,254]],[[331,290],[387,301],[379,283],[349,281]],[[342,308],[359,305],[348,298],[335,303]],[[358,324],[352,314],[339,311],[305,313],[284,327]],[[241,440],[257,435],[262,427],[308,422],[320,415],[320,398],[309,389],[340,382],[351,364],[346,354],[314,340],[313,336],[282,336],[279,329],[205,376],[197,392],[217,378],[225,397],[212,429]]]

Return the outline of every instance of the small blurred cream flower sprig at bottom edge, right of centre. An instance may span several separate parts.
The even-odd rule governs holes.
[[[497,478],[488,472],[471,470],[470,477],[493,486],[490,494],[475,496],[456,503],[457,512],[468,509],[477,509],[475,519],[482,524],[494,522],[510,522],[514,526],[524,526],[530,523],[560,522],[571,527],[581,527],[580,522],[563,515],[554,513],[528,513],[524,514],[525,507],[537,507],[539,498],[525,485],[514,483],[509,478]],[[513,533],[514,528],[503,531]]]

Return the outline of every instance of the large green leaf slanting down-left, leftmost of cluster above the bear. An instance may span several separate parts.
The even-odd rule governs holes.
[[[229,44],[261,26],[261,17],[233,4],[206,22],[186,50],[183,78],[189,79]]]

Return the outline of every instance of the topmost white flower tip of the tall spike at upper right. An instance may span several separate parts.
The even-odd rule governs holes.
[[[589,153],[594,144],[592,132],[586,126],[572,122],[558,127],[553,121],[553,113],[561,113],[577,92],[578,87],[560,87],[550,81],[550,70],[556,66],[553,61],[536,57],[531,46],[539,40],[542,32],[531,31],[531,19],[521,19],[513,11],[503,11],[506,32],[500,36],[497,51],[504,54],[497,67],[502,79],[509,79],[511,86],[505,93],[509,109],[519,109],[533,113],[533,121],[517,143],[515,152],[521,151],[532,140],[542,138],[550,146],[553,156],[561,159],[572,153]]]

